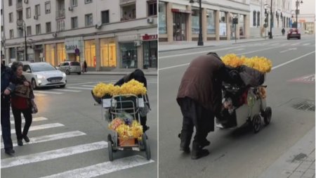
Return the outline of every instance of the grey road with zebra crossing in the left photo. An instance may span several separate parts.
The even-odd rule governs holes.
[[[157,76],[147,77],[152,110],[147,115],[152,159],[145,152],[117,152],[110,163],[107,122],[101,106],[94,106],[91,89],[98,82],[115,82],[118,75],[68,75],[65,89],[34,91],[39,113],[28,136],[31,144],[4,154],[1,140],[1,177],[157,177]],[[11,113],[12,115],[12,113]],[[13,117],[11,117],[13,121]],[[14,130],[14,123],[11,129]],[[86,174],[85,174],[86,173]]]

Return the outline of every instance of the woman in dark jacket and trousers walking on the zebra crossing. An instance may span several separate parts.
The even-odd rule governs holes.
[[[18,139],[18,145],[22,146],[22,139],[25,139],[26,142],[29,142],[27,132],[29,131],[29,127],[32,124],[31,100],[34,99],[34,94],[31,85],[29,82],[27,82],[24,75],[22,75],[23,64],[21,62],[14,62],[11,68],[16,75],[15,81],[13,81],[15,84],[15,93],[11,98],[11,107],[14,116],[15,134]],[[23,113],[25,117],[25,126],[23,132],[21,132],[21,113]]]

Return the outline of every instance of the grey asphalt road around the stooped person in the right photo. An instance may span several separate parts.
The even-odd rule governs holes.
[[[179,151],[182,115],[176,103],[181,77],[193,58],[216,52],[219,56],[265,56],[273,63],[266,76],[270,125],[254,134],[249,127],[215,129],[207,139],[210,154],[199,160]],[[312,110],[294,108],[310,104]],[[299,108],[299,107],[297,107]],[[302,107],[301,107],[302,108]],[[315,36],[301,40],[261,42],[185,49],[159,53],[159,177],[259,177],[302,136],[315,127]]]

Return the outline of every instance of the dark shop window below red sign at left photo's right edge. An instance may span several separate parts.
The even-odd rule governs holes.
[[[144,69],[157,68],[157,41],[143,42]]]

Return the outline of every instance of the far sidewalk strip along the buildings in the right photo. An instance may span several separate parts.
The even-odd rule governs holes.
[[[273,39],[286,39],[286,36],[273,36]],[[273,40],[272,39],[272,40]],[[196,49],[196,48],[205,48],[210,46],[223,46],[223,45],[230,45],[230,44],[243,44],[243,43],[249,43],[249,42],[259,42],[259,41],[267,41],[269,42],[271,39],[269,37],[256,37],[256,38],[250,38],[250,39],[237,39],[237,42],[235,42],[235,39],[231,40],[220,40],[220,41],[207,41],[204,42],[204,46],[197,46],[197,42],[159,42],[159,52],[166,52],[166,51],[176,51],[179,49]]]

